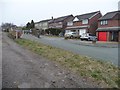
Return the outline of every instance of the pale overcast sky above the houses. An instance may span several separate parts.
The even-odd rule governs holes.
[[[94,11],[118,10],[120,0],[0,0],[0,24],[13,23],[24,26],[27,22],[71,15],[81,15]]]

